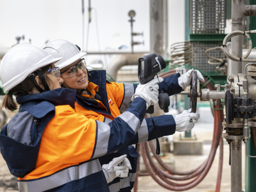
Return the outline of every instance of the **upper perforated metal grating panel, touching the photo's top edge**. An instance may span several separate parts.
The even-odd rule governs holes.
[[[190,0],[190,28],[193,34],[224,33],[226,0]]]

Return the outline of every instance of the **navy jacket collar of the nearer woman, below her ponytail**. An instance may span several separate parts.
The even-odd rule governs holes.
[[[48,101],[55,106],[70,105],[72,108],[75,108],[75,98],[75,89],[58,88],[51,91],[20,96],[17,97],[16,100],[20,105],[27,102],[39,103],[42,101]]]

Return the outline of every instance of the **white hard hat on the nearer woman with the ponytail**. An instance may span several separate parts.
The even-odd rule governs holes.
[[[4,55],[0,65],[0,79],[4,93],[20,84],[35,70],[60,60],[53,58],[43,49],[29,43],[13,46]]]

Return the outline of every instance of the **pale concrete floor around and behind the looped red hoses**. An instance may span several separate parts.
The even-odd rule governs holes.
[[[204,140],[203,145],[203,155],[173,155],[174,167],[175,170],[179,171],[189,171],[204,162],[207,158],[209,151],[211,149],[213,132],[213,124],[200,123],[195,124],[195,127],[192,131],[192,135],[196,135],[197,138]],[[181,136],[183,133],[181,133]],[[179,132],[176,132],[173,135],[174,138],[180,137]],[[206,143],[206,144],[205,144]],[[223,169],[222,169],[222,179],[221,179],[221,192],[230,192],[230,165],[229,161],[229,145],[226,140],[224,140],[223,147]],[[242,188],[244,189],[244,161],[245,160],[245,145],[242,145]],[[216,187],[217,172],[219,164],[219,148],[216,151],[212,166],[205,176],[205,178],[194,188],[185,190],[186,192],[214,192]],[[159,186],[151,176],[139,176],[138,179],[138,192],[167,192],[170,191]]]

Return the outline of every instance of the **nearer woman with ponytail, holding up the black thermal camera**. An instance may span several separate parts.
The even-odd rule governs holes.
[[[111,123],[89,119],[74,109],[76,90],[60,88],[60,70],[53,58],[28,43],[12,47],[0,66],[0,79],[7,93],[3,106],[17,108],[0,133],[0,150],[10,172],[18,177],[20,192],[108,192],[98,157],[124,147],[138,131],[146,104],[155,104],[158,85],[136,97],[128,111]],[[122,132],[119,127],[122,126]],[[126,162],[125,155],[106,164],[106,174]],[[95,179],[97,178],[97,179]]]

